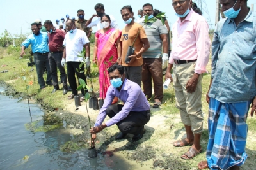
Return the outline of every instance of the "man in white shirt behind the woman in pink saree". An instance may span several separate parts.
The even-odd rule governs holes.
[[[102,25],[100,23],[100,18],[102,17],[102,15],[105,14],[105,9],[104,9],[104,5],[102,3],[97,3],[94,7],[96,14],[93,14],[92,17],[86,22],[86,27],[96,27],[97,26],[97,30],[102,29]],[[97,20],[92,22],[92,19],[94,17],[98,17]],[[115,18],[113,17],[113,15],[109,15],[110,19],[111,19],[111,23],[110,26],[112,28],[115,29],[119,29],[118,24],[115,20]]]

